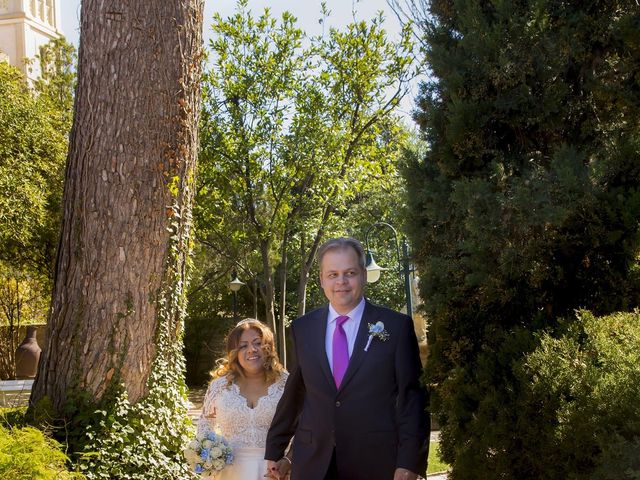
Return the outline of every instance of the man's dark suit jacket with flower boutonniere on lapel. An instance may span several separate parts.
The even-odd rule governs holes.
[[[323,480],[335,448],[340,479],[391,480],[396,467],[425,474],[429,416],[411,318],[367,301],[340,389],[327,360],[328,306],[293,322],[296,365],[267,436],[265,458],[279,460],[293,440],[292,480]],[[386,341],[365,352],[369,324]]]

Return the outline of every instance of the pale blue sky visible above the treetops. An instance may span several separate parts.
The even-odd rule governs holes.
[[[249,0],[249,9],[254,15],[261,13],[265,7],[269,7],[272,16],[280,17],[283,11],[288,10],[298,19],[298,26],[308,35],[319,35],[322,33],[322,26],[319,24],[320,4],[322,0]],[[392,38],[398,36],[400,23],[387,5],[386,0],[325,0],[327,8],[331,12],[326,24],[331,27],[340,28],[349,22],[356,20],[368,20],[382,11],[385,17],[385,28]],[[80,0],[62,0],[60,2],[62,31],[67,41],[78,46],[80,35]],[[204,2],[204,37],[205,45],[212,37],[211,19],[214,12],[220,13],[223,17],[228,17],[236,9],[235,0],[205,0]],[[326,28],[326,27],[325,27]],[[417,82],[412,85],[411,91],[404,98],[400,113],[410,120],[411,110],[414,105],[414,96],[418,92]]]

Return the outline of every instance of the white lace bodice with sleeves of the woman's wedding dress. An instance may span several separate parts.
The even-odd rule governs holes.
[[[247,399],[240,395],[240,388],[235,383],[227,386],[226,378],[217,378],[209,384],[205,394],[202,414],[198,420],[198,433],[213,430],[223,435],[234,449],[264,448],[267,431],[284,391],[287,376],[283,373],[270,385],[267,395],[260,397],[254,408],[247,405]],[[215,419],[206,418],[214,409]]]

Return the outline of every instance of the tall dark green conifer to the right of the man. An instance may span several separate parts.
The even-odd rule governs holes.
[[[640,10],[428,3],[405,177],[442,452],[454,479],[550,478],[518,453],[538,437],[516,371],[574,309],[640,303]]]

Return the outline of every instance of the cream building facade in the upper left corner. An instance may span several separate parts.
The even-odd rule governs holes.
[[[60,0],[0,0],[0,60],[30,79],[40,74],[34,60],[42,45],[62,36]]]

